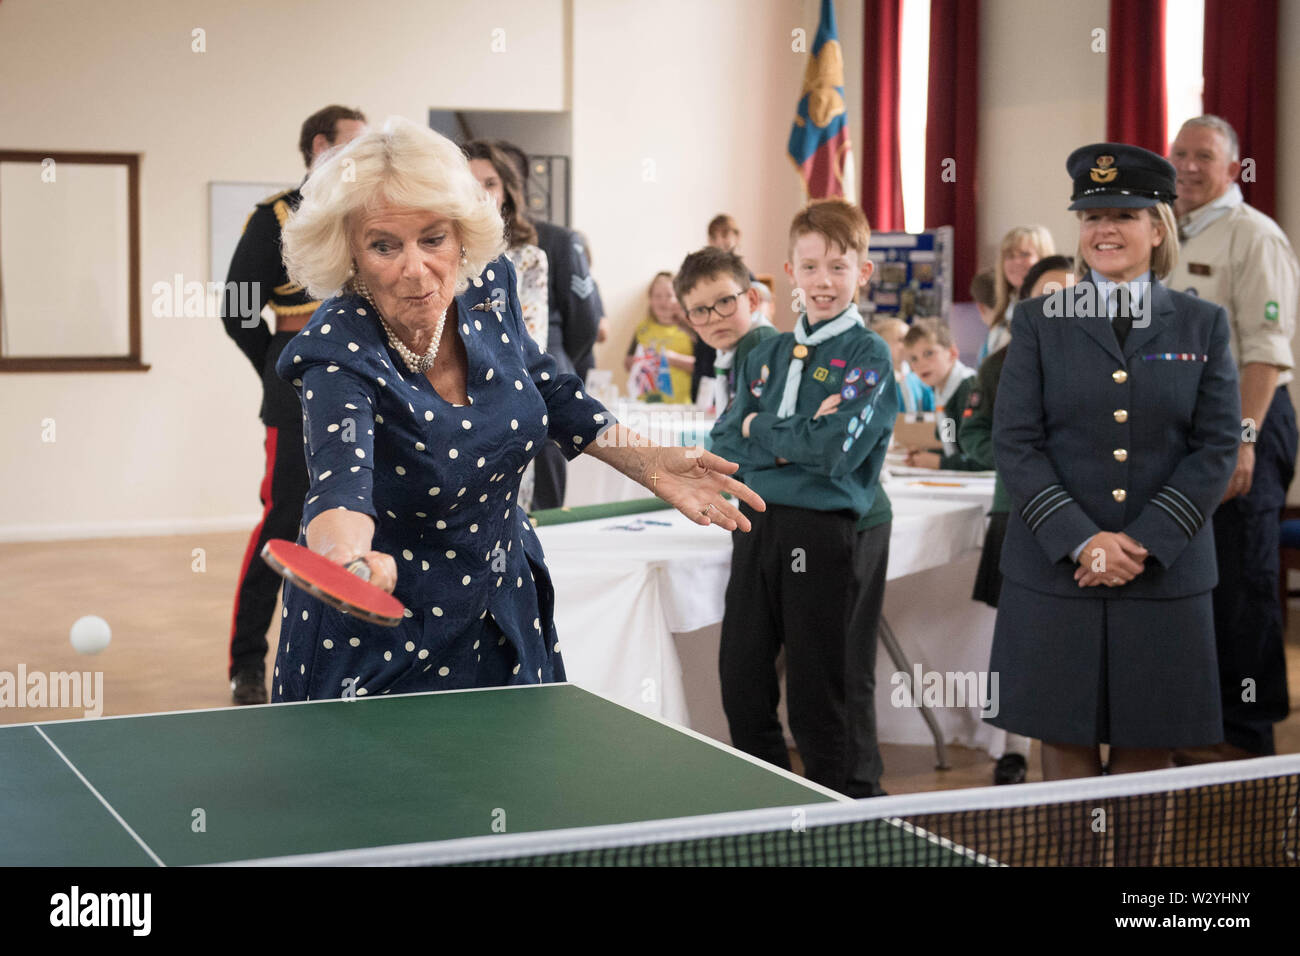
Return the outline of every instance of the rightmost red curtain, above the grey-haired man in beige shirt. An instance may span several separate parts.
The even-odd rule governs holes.
[[[1278,0],[1205,0],[1202,73],[1205,112],[1227,120],[1242,143],[1242,159],[1254,160],[1243,170],[1245,202],[1273,216],[1277,209]]]

